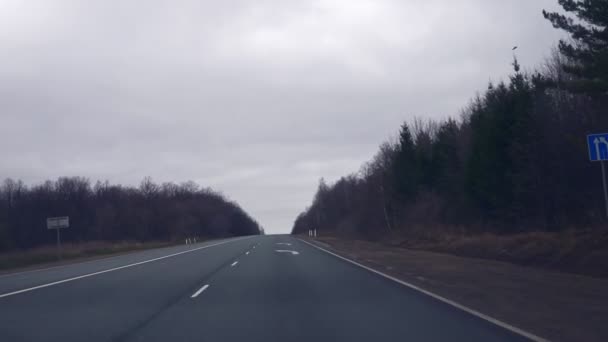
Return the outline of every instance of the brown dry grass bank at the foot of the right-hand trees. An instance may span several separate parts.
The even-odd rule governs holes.
[[[368,240],[390,247],[427,250],[506,261],[595,277],[608,277],[608,227],[510,235],[483,233],[481,227],[418,224],[366,238],[342,228],[323,236]]]

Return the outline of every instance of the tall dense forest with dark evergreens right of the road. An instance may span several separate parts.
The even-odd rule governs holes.
[[[517,58],[457,119],[415,119],[355,174],[320,181],[294,234],[432,236],[606,225],[586,136],[608,131],[608,1],[543,12],[569,34],[533,72]]]

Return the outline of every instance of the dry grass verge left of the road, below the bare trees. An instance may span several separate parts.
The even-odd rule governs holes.
[[[11,251],[0,254],[0,274],[66,265],[145,249],[169,247],[176,244],[177,243],[175,242],[167,241],[91,241],[67,243],[62,245],[61,260],[58,260],[57,258],[56,246],[43,246],[24,251]]]

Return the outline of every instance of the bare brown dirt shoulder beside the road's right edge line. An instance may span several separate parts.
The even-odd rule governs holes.
[[[608,341],[608,279],[354,239],[312,242],[550,340]]]

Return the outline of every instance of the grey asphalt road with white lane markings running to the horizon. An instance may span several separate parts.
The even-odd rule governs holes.
[[[291,236],[0,276],[7,342],[526,340]]]

